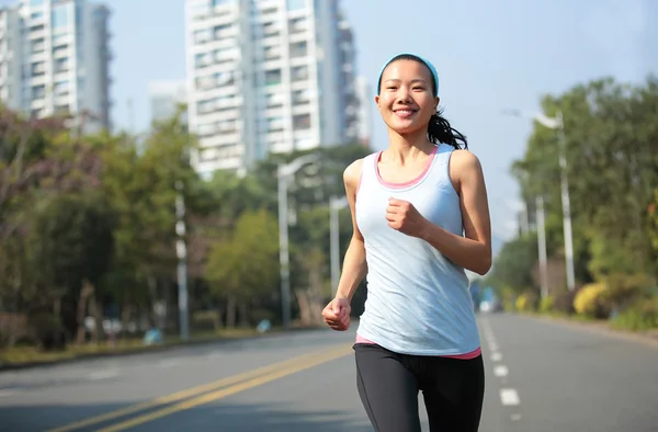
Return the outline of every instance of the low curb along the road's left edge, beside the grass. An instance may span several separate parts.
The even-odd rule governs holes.
[[[57,360],[52,360],[52,361],[0,363],[0,374],[2,374],[3,372],[31,370],[31,368],[37,368],[37,367],[45,368],[45,367],[58,366],[58,365],[63,365],[63,364],[83,362],[83,361],[88,361],[88,360],[127,357],[131,355],[144,355],[144,354],[157,354],[157,353],[171,351],[171,350],[175,350],[175,349],[184,349],[184,348],[211,345],[211,344],[225,344],[225,343],[229,343],[229,342],[251,341],[251,340],[256,340],[256,339],[266,339],[266,338],[273,338],[273,337],[279,337],[279,336],[284,336],[284,334],[292,334],[292,333],[296,333],[299,331],[311,331],[311,330],[318,330],[318,329],[320,329],[320,328],[319,327],[307,327],[307,328],[291,329],[287,331],[273,330],[273,331],[269,331],[263,334],[253,334],[253,336],[245,336],[245,337],[236,337],[236,338],[218,337],[217,339],[197,340],[197,341],[189,341],[189,342],[171,342],[169,344],[164,343],[164,344],[160,344],[160,345],[144,345],[144,346],[138,346],[138,348],[124,349],[124,350],[120,349],[117,351],[106,351],[106,352],[100,352],[100,353],[83,353],[83,354],[79,354],[79,355],[76,355],[76,356],[72,356],[69,359],[57,359]]]

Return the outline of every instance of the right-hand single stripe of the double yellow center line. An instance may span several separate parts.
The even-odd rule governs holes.
[[[245,391],[245,390],[248,390],[253,387],[258,387],[260,385],[270,383],[270,382],[279,379],[279,378],[283,378],[284,376],[293,375],[297,372],[302,372],[302,371],[311,368],[314,366],[318,366],[322,363],[327,363],[332,360],[343,357],[343,356],[348,355],[350,352],[352,352],[352,344],[342,346],[338,350],[334,350],[333,352],[327,353],[326,355],[318,356],[316,359],[310,359],[308,362],[300,362],[300,364],[294,364],[288,367],[284,367],[284,368],[274,371],[270,374],[258,376],[256,378],[236,384],[234,386],[223,388],[217,391],[197,396],[195,398],[175,403],[171,407],[162,408],[160,410],[157,410],[157,411],[144,414],[144,416],[139,416],[139,417],[123,421],[121,423],[117,423],[117,424],[114,424],[114,425],[111,425],[111,427],[107,427],[104,429],[100,429],[97,432],[125,431],[126,429],[131,429],[131,428],[134,428],[136,425],[143,424],[143,423],[146,423],[146,422],[149,422],[152,420],[161,419],[161,418],[172,414],[174,412],[183,411],[183,410],[198,407],[202,405],[206,405],[212,401],[225,398],[227,396],[231,396],[237,393]]]

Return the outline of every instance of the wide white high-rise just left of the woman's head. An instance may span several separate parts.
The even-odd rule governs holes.
[[[353,36],[339,0],[186,0],[185,14],[201,173],[358,139]]]

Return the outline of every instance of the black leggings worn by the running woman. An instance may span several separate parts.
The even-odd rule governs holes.
[[[431,432],[477,432],[485,394],[481,355],[407,355],[366,343],[354,344],[354,351],[359,396],[376,432],[420,432],[419,390]]]

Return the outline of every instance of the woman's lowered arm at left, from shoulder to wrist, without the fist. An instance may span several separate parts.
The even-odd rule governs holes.
[[[347,298],[352,300],[356,287],[365,276],[367,265],[365,262],[365,246],[363,236],[356,225],[355,203],[356,191],[361,181],[363,169],[363,159],[355,160],[343,172],[343,182],[345,184],[345,194],[350,211],[352,213],[352,239],[343,259],[342,272],[336,292],[337,298]]]

